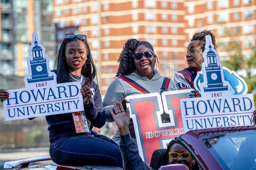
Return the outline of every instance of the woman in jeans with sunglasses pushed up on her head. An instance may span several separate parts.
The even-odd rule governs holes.
[[[123,167],[119,147],[103,135],[92,131],[106,122],[89,44],[85,35],[67,34],[58,53],[57,83],[80,81],[84,103],[83,123],[77,123],[76,113],[46,116],[49,124],[50,156],[60,165],[115,165]],[[9,94],[0,89],[1,101]],[[81,116],[81,115],[80,115]],[[83,115],[82,115],[83,116]],[[87,121],[86,121],[87,118]],[[86,124],[88,126],[87,131]],[[83,131],[84,130],[84,131]]]

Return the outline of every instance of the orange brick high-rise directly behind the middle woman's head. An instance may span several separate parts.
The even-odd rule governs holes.
[[[65,28],[71,26],[77,26],[71,33],[87,36],[102,94],[115,77],[118,56],[130,38],[149,41],[158,56],[158,71],[173,77],[175,71],[186,66],[184,2],[55,0],[57,41],[69,33]]]

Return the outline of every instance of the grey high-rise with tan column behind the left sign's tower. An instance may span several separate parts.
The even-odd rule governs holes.
[[[23,77],[28,74],[28,49],[37,32],[46,48],[50,66],[55,62],[55,25],[51,0],[1,0],[1,74]]]

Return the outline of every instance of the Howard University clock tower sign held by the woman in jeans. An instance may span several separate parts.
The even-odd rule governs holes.
[[[37,33],[32,36],[27,61],[29,74],[24,78],[26,88],[7,90],[10,96],[3,101],[5,121],[84,111],[81,82],[57,84],[45,48]]]

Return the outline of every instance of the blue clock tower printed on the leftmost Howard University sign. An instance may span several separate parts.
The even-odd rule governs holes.
[[[31,79],[27,79],[28,83],[53,80],[53,76],[49,76],[47,70],[47,61],[44,58],[43,49],[34,41],[34,47],[31,49],[33,59],[30,60]]]

